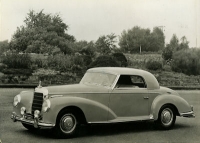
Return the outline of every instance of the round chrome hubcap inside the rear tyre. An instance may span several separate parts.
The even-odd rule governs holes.
[[[170,108],[166,108],[161,113],[161,122],[164,126],[170,126],[173,122],[174,114]]]

